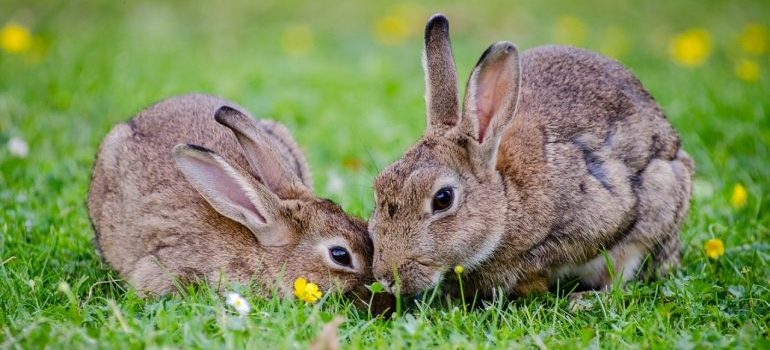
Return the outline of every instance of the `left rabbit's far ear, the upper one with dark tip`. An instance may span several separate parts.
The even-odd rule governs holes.
[[[223,106],[214,113],[214,119],[235,133],[249,165],[273,192],[287,195],[297,189],[308,190],[297,173],[287,164],[288,160],[270,145],[269,136],[253,118],[234,108]]]

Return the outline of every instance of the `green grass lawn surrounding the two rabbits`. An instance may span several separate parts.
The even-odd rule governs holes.
[[[302,348],[336,315],[351,348],[770,347],[770,60],[767,49],[750,55],[737,42],[746,24],[767,25],[769,2],[431,1],[406,7],[406,15],[369,6],[4,1],[0,23],[26,25],[36,44],[20,55],[0,51],[0,348]],[[416,19],[406,21],[412,33],[403,42],[383,46],[372,27],[393,11]],[[141,299],[100,262],[84,205],[99,141],[144,106],[191,91],[288,125],[317,192],[366,217],[377,169],[425,123],[421,27],[434,11],[452,21],[463,80],[496,40],[521,48],[571,40],[619,52],[697,164],[679,271],[588,298],[575,312],[552,294],[467,311],[439,297],[409,303],[393,319],[371,319],[334,295],[307,306],[234,286],[254,308],[239,319],[205,286]],[[570,23],[563,16],[583,26],[558,29]],[[313,35],[301,57],[281,46],[296,25]],[[678,66],[669,39],[695,27],[709,32],[711,54],[700,67]],[[742,58],[757,62],[758,81],[736,77]],[[26,158],[5,147],[12,137],[27,141]],[[334,178],[341,189],[327,186]],[[730,195],[738,183],[748,201],[736,209]],[[727,248],[717,261],[703,252],[713,237]]]

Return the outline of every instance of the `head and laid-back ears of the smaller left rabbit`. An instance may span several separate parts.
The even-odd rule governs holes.
[[[333,202],[317,198],[308,181],[292,170],[296,164],[270,146],[268,131],[253,119],[222,107],[216,120],[235,132],[252,172],[196,145],[177,145],[173,158],[214,210],[254,235],[265,250],[263,265],[272,269],[258,273],[282,276],[287,294],[300,277],[323,290],[360,290],[370,282],[372,243],[366,224]]]

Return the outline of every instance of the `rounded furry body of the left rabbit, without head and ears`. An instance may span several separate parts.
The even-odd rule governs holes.
[[[215,278],[216,270],[247,279],[268,263],[253,234],[212,209],[171,157],[177,144],[201,145],[258,178],[233,132],[214,120],[223,105],[243,110],[207,95],[170,98],[116,125],[100,146],[88,196],[95,241],[107,262],[142,289],[162,292],[171,275]],[[258,124],[309,184],[288,131],[271,121]]]

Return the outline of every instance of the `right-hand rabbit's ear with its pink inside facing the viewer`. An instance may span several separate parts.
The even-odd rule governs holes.
[[[492,154],[513,119],[521,85],[519,72],[516,46],[501,41],[484,51],[468,79],[462,127]]]

